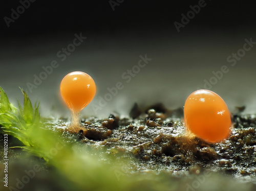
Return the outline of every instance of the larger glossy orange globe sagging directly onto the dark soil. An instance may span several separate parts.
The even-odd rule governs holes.
[[[208,142],[219,142],[230,133],[227,105],[210,90],[197,90],[188,96],[184,105],[184,122],[188,131]]]

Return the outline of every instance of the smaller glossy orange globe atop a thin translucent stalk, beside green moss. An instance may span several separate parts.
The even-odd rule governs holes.
[[[82,71],[73,71],[60,83],[60,93],[70,110],[81,111],[94,98],[96,85],[91,76]]]

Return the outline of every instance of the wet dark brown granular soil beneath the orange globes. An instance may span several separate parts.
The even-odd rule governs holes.
[[[113,114],[105,119],[83,118],[80,140],[103,146],[107,154],[130,158],[133,171],[197,174],[210,170],[251,177],[256,175],[256,115],[243,115],[243,109],[233,114],[230,136],[216,144],[187,136],[182,108],[168,110],[163,104],[145,109],[135,104],[126,118]]]

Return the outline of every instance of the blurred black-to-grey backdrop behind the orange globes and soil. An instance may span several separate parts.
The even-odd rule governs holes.
[[[97,85],[96,96],[83,115],[127,115],[135,102],[141,107],[161,102],[175,109],[199,88],[218,93],[230,111],[245,105],[245,113],[256,113],[256,44],[238,56],[236,65],[227,61],[233,53],[243,53],[240,49],[245,39],[256,42],[253,3],[205,3],[180,32],[174,22],[181,23],[181,14],[186,15],[191,11],[189,6],[198,5],[198,1],[123,1],[114,11],[108,1],[97,5],[31,3],[9,28],[2,20],[0,86],[14,104],[16,99],[23,99],[18,87],[27,90],[33,102],[40,101],[44,116],[69,116],[61,102],[59,85],[66,74],[75,70],[88,73]],[[19,2],[5,6],[3,18],[10,17],[11,8],[16,9]],[[87,39],[61,61],[63,57],[59,58],[57,52],[67,48],[74,35],[80,33]],[[123,73],[138,65],[139,56],[145,54],[152,60],[126,83]],[[42,66],[51,65],[53,60],[58,67],[29,91],[27,83],[33,83],[34,75],[39,76],[44,71]],[[220,71],[223,65],[228,72],[214,81],[213,72]],[[205,81],[210,86],[205,86]],[[115,87],[117,82],[123,84],[123,89],[95,112],[93,105],[99,106],[100,97],[104,98],[107,88]]]

